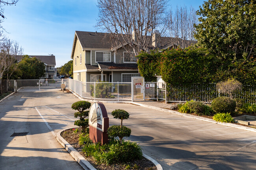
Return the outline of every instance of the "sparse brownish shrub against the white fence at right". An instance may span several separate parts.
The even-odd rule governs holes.
[[[221,90],[221,93],[228,93],[229,97],[233,99],[233,93],[236,90],[240,90],[243,84],[235,79],[228,79],[216,84],[217,88]]]

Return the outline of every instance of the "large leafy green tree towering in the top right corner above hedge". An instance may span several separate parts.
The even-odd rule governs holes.
[[[223,64],[255,57],[255,0],[208,0],[197,14],[198,44],[220,57]]]

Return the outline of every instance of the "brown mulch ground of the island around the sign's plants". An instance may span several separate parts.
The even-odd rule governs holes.
[[[74,133],[76,129],[65,130],[61,132],[61,136],[73,147],[75,148],[91,165],[93,165],[97,170],[157,170],[156,166],[144,158],[141,160],[135,160],[128,163],[117,163],[112,165],[99,164],[97,165],[96,161],[94,161],[93,157],[86,156],[82,152],[82,147],[79,145],[79,135],[81,132],[81,128],[78,128],[79,132]],[[130,166],[130,168],[128,168]]]

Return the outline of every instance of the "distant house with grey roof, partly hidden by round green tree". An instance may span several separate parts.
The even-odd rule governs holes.
[[[57,69],[55,70],[56,61],[55,56],[52,55],[28,55],[29,57],[35,57],[41,60],[45,64],[45,76],[41,79],[55,79],[57,74]],[[22,56],[16,56],[17,61],[19,62],[22,59]]]

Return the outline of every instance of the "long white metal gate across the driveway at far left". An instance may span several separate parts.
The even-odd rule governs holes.
[[[17,92],[34,92],[61,89],[61,84],[68,88],[68,79],[15,80]]]

